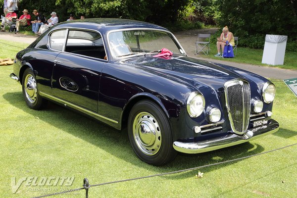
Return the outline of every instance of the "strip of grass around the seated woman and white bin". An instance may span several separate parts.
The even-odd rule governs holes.
[[[240,43],[240,40],[238,42]],[[205,55],[203,53],[199,53],[199,55],[204,58],[222,59],[221,57],[215,57],[214,54],[216,53],[217,53],[216,45],[210,44],[210,54]],[[234,51],[234,55],[235,55],[235,51]],[[284,65],[262,64],[262,56],[263,56],[263,49],[249,49],[249,48],[238,47],[236,57],[224,58],[224,61],[297,70],[297,53],[296,52],[285,53]]]

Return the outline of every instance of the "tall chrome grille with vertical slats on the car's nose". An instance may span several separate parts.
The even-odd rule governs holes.
[[[250,114],[248,82],[243,79],[226,82],[225,99],[232,131],[239,135],[246,133]]]

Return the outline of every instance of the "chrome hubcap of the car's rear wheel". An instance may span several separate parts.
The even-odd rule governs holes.
[[[28,74],[24,82],[25,95],[29,102],[34,103],[37,99],[37,86],[34,76]]]

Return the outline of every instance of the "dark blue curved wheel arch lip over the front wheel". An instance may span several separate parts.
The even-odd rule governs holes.
[[[121,120],[122,120],[122,122],[121,122],[121,128],[124,128],[124,127],[127,126],[129,113],[130,113],[132,107],[138,101],[143,100],[143,99],[148,99],[148,100],[156,103],[162,109],[162,111],[165,113],[167,119],[168,120],[170,119],[170,115],[169,115],[167,109],[165,108],[164,104],[162,103],[162,101],[158,97],[156,97],[156,96],[154,96],[152,94],[149,94],[149,93],[140,93],[140,94],[137,94],[137,95],[133,96],[131,99],[129,99],[129,101],[127,102],[127,104],[124,106],[124,109],[123,109],[123,112],[122,112],[122,116],[121,116]],[[171,124],[170,124],[170,126],[171,126]]]

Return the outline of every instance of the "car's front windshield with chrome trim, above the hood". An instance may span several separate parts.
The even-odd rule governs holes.
[[[185,54],[168,32],[155,30],[124,30],[111,32],[108,36],[111,53],[114,57],[158,53],[166,48],[173,53]]]

